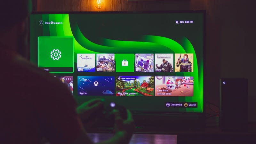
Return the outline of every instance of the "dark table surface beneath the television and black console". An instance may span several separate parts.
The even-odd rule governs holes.
[[[255,125],[246,132],[221,131],[217,127],[207,127],[204,130],[174,130],[136,129],[130,144],[256,144]],[[89,133],[94,142],[109,139],[113,134]]]

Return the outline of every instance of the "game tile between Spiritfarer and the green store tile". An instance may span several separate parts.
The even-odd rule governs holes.
[[[97,54],[97,71],[114,72],[115,54]]]

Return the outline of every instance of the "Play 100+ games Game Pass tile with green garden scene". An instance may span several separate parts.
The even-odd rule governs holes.
[[[116,77],[116,96],[153,96],[154,76]]]

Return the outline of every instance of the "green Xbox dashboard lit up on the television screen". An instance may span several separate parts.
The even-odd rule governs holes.
[[[74,98],[130,109],[203,112],[204,13],[30,16],[30,60]]]

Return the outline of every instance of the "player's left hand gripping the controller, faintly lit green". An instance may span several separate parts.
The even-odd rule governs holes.
[[[98,121],[97,112],[103,110],[103,101],[100,99],[92,99],[84,102],[82,105],[76,108],[77,114],[80,116],[84,123],[85,129],[90,128]],[[94,114],[94,116],[92,116]],[[96,114],[96,116],[95,116]],[[100,114],[99,114],[100,116]]]

